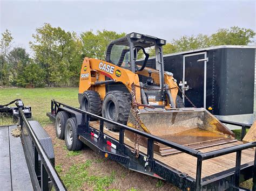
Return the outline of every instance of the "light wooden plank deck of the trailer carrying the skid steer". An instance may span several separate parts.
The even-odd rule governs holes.
[[[90,122],[90,125],[93,128],[96,128],[99,130],[99,122]],[[106,128],[104,128],[104,133],[107,135],[119,139],[119,133],[118,132],[112,132]],[[131,142],[130,139],[127,139],[125,137],[124,143],[133,148],[134,143]],[[210,152],[210,151],[215,151],[215,150],[220,150],[221,148],[227,148],[235,145],[240,145],[242,142],[237,141],[233,143],[227,143],[227,144],[222,144],[222,145],[216,145],[212,147],[206,147],[206,148],[201,148],[199,151],[201,152]],[[147,149],[143,146],[140,146],[140,152],[146,154]],[[213,175],[215,173],[219,173],[221,171],[225,171],[227,169],[235,167],[235,154],[236,153],[231,153],[231,154],[226,154],[217,158],[213,159],[208,159],[203,161],[203,168],[202,168],[202,178],[206,176]],[[166,155],[166,156],[161,156],[158,155],[157,153],[154,153],[154,159],[160,161],[161,163],[178,169],[180,172],[185,172],[188,175],[190,175],[192,178],[196,178],[196,166],[197,166],[197,158],[193,157],[189,154],[186,153],[177,153],[177,154],[171,154],[171,155]],[[254,160],[254,150],[253,148],[247,149],[242,151],[242,157],[241,157],[241,164],[246,164],[248,162],[251,162]]]

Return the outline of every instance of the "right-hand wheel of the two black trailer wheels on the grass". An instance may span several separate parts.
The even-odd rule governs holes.
[[[72,138],[70,137],[71,133],[72,133]],[[68,121],[66,121],[65,143],[69,151],[80,151],[83,147],[83,143],[78,139],[77,123],[76,123],[75,117],[71,117],[68,119]]]

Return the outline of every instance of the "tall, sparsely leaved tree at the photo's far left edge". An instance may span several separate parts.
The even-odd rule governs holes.
[[[5,30],[2,33],[1,45],[0,45],[0,85],[9,85],[8,66],[6,65],[6,55],[8,54],[11,43],[14,38],[11,36],[9,30]]]

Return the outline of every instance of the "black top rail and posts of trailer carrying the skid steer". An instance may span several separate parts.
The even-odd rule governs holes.
[[[82,114],[82,116],[84,117],[83,121],[85,121],[85,123],[86,123],[85,124],[86,128],[89,128],[89,126],[90,126],[89,125],[90,117],[98,119],[99,122],[100,122],[100,128],[99,128],[99,134],[100,135],[103,135],[103,133],[104,133],[103,132],[104,131],[104,123],[107,122],[107,123],[117,125],[120,129],[119,130],[119,140],[118,140],[118,142],[121,145],[119,147],[119,150],[121,150],[121,152],[124,151],[124,147],[125,147],[125,145],[124,145],[124,130],[136,133],[139,136],[143,136],[143,137],[147,138],[147,140],[148,140],[147,141],[147,162],[148,162],[148,165],[149,165],[151,170],[153,170],[154,167],[159,167],[159,165],[161,166],[161,164],[159,164],[158,161],[154,160],[154,151],[153,151],[154,142],[164,144],[166,146],[175,148],[178,151],[181,151],[181,152],[190,154],[193,157],[196,157],[197,158],[196,180],[190,177],[190,181],[192,181],[192,185],[196,190],[201,190],[202,185],[205,186],[208,183],[210,184],[213,181],[219,180],[219,179],[216,179],[215,176],[208,176],[206,181],[202,181],[201,171],[202,171],[202,162],[203,162],[203,160],[212,159],[212,158],[215,158],[215,157],[219,157],[221,155],[230,154],[230,153],[234,153],[234,152],[237,152],[237,157],[235,159],[236,162],[235,162],[234,180],[232,180],[232,181],[234,183],[234,188],[239,188],[239,179],[240,179],[240,172],[241,172],[241,151],[245,150],[247,148],[256,147],[256,142],[252,142],[252,143],[236,145],[236,146],[232,146],[232,147],[228,147],[228,148],[222,148],[222,149],[217,150],[217,151],[203,153],[203,152],[200,152],[198,150],[194,150],[193,148],[188,148],[186,146],[179,145],[177,143],[170,142],[170,141],[165,140],[165,139],[161,139],[159,137],[150,135],[150,134],[145,133],[143,131],[139,131],[137,129],[130,128],[127,125],[123,125],[123,124],[119,124],[117,122],[110,121],[109,119],[91,114],[90,112],[86,112],[86,111],[71,107],[70,105],[67,105],[67,104],[64,104],[64,103],[61,103],[61,102],[58,102],[58,101],[55,101],[55,100],[51,101],[51,114],[56,115],[57,114],[57,109],[59,107],[68,108],[68,109],[71,109],[73,111],[76,111],[76,112],[79,112],[80,114]],[[228,123],[228,122],[225,121],[224,123]],[[230,122],[230,123],[232,123],[233,125],[242,126],[242,127],[244,127],[244,129],[248,128],[248,125],[246,125],[246,124],[235,123],[235,122]],[[256,162],[255,162],[256,160],[255,159],[256,159],[256,150],[255,150],[255,155],[254,155],[253,166],[250,166],[250,167],[253,168],[252,177],[253,177],[253,188],[254,189],[256,189]],[[163,168],[166,168],[166,167],[164,166]],[[169,168],[166,171],[171,171],[171,169]],[[228,174],[225,174],[225,177],[227,175],[230,176],[232,173],[233,172],[228,172]]]

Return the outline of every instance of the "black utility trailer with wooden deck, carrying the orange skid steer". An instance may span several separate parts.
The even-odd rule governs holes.
[[[59,112],[66,117],[59,118]],[[52,100],[51,112],[48,112],[47,116],[56,125],[66,123],[64,137],[67,147],[71,150],[81,148],[80,145],[83,143],[103,157],[117,161],[126,168],[167,180],[180,189],[238,190],[240,182],[251,178],[253,190],[256,189],[256,142],[242,144],[237,140],[233,143],[194,150],[55,100]],[[119,132],[107,130],[104,127],[106,122],[118,125]],[[232,124],[243,126],[243,132],[250,128],[246,124]],[[147,147],[140,146],[138,158],[134,157],[134,143],[125,137],[125,131],[147,138]],[[167,156],[158,155],[153,151],[154,142],[180,152]]]

